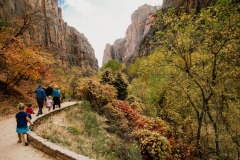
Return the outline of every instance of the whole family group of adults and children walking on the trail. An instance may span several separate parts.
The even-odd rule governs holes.
[[[50,85],[44,89],[41,87],[41,85],[38,86],[38,88],[34,91],[36,94],[36,100],[38,104],[38,113],[36,116],[43,114],[43,106],[44,103],[46,103],[46,107],[48,108],[48,111],[51,110],[53,107],[53,110],[55,110],[55,106],[58,106],[58,108],[61,108],[60,103],[60,96],[61,92],[58,89],[58,86],[55,86],[52,88]],[[17,129],[16,132],[18,134],[18,141],[17,143],[24,143],[25,146],[28,146],[26,133],[29,131],[27,123],[33,124],[31,122],[32,116],[31,114],[34,114],[34,111],[32,109],[32,104],[27,104],[27,108],[25,110],[25,104],[19,103],[18,105],[19,112],[16,114],[16,122],[17,122]]]

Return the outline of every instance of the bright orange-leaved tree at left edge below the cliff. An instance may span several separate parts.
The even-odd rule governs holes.
[[[7,21],[1,19],[0,67],[4,75],[1,79],[5,84],[4,91],[11,89],[22,79],[39,79],[39,68],[51,63],[51,58],[43,56],[44,52],[29,45],[30,38],[26,33],[28,29],[36,28],[36,18],[40,15],[41,10],[34,9]]]

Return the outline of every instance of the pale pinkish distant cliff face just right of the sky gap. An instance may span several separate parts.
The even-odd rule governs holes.
[[[116,40],[113,45],[106,45],[103,65],[112,59],[126,63],[129,58],[136,55],[139,43],[150,29],[152,13],[155,13],[157,9],[158,7],[143,5],[132,14],[126,37]]]

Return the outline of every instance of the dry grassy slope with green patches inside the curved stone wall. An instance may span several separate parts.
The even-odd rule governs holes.
[[[35,132],[53,143],[93,159],[141,159],[136,144],[127,144],[108,133],[104,129],[105,121],[104,117],[91,111],[88,103],[84,103],[50,116]]]

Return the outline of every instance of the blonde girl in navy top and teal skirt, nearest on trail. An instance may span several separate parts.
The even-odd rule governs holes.
[[[33,124],[31,120],[28,118],[28,114],[24,112],[25,105],[23,103],[19,103],[18,109],[19,112],[16,114],[16,121],[17,121],[17,129],[16,132],[18,133],[18,143],[24,142],[25,146],[28,146],[27,139],[25,138],[26,133],[29,131],[27,122]]]

